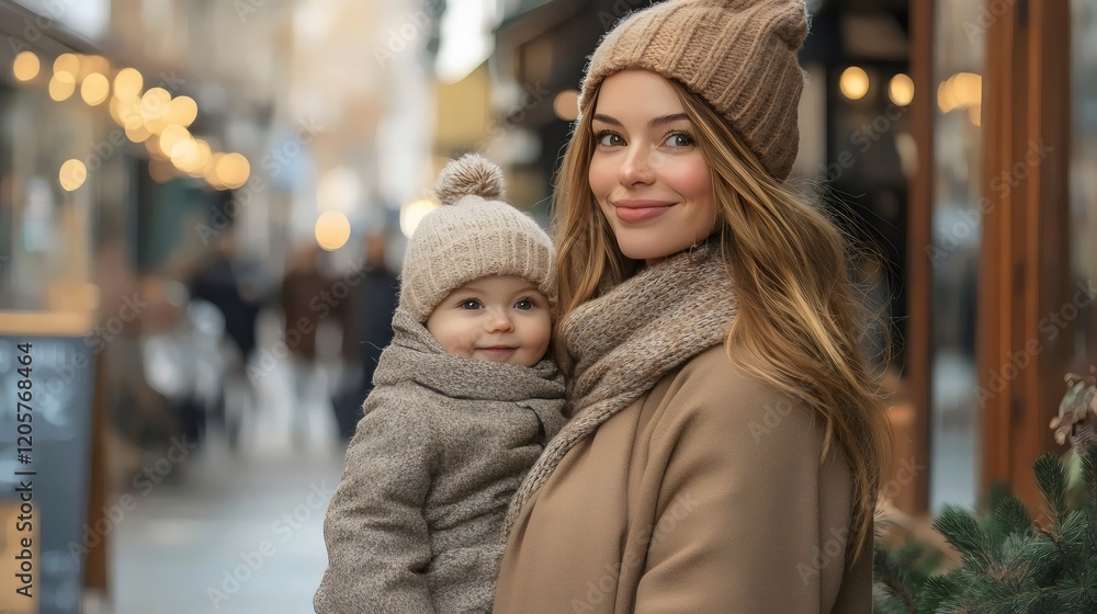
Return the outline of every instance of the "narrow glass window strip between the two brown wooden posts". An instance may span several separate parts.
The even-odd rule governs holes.
[[[937,0],[934,34],[932,389],[930,512],[974,505],[979,492],[979,405],[974,389],[976,272],[986,32],[982,0]]]

